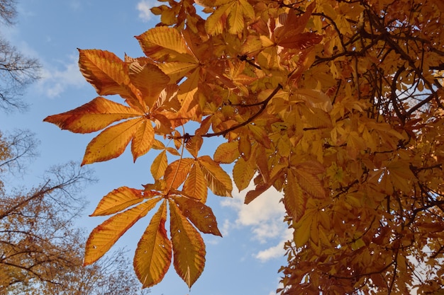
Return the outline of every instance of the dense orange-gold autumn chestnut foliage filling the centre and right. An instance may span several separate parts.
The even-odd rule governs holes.
[[[85,263],[157,208],[135,271],[152,286],[172,260],[191,287],[204,269],[199,231],[220,235],[207,189],[229,197],[221,164],[234,163],[236,187],[255,184],[245,203],[282,192],[294,229],[282,294],[443,289],[442,11],[431,0],[170,0],[136,37],[144,57],[79,50],[99,97],[45,121],[101,131],[83,164],[130,142],[134,161],[160,151],[152,183],[101,199],[92,215],[111,217]],[[199,155],[210,137],[226,140],[212,158]]]

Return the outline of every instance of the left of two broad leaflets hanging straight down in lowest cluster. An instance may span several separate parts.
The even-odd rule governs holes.
[[[143,287],[160,282],[171,265],[172,245],[167,237],[167,206],[162,202],[135,249],[134,270]]]

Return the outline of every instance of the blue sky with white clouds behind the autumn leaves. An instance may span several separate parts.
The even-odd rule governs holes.
[[[23,54],[36,57],[43,64],[42,79],[30,86],[23,97],[30,103],[30,110],[0,116],[1,130],[30,129],[40,139],[40,157],[23,178],[16,180],[18,185],[38,183],[42,171],[57,163],[82,160],[94,134],[61,131],[44,123],[43,118],[77,108],[97,96],[79,73],[77,48],[109,50],[121,58],[125,53],[131,57],[143,54],[133,36],[157,23],[149,14],[154,4],[154,1],[135,0],[18,1],[17,24],[0,32]],[[212,156],[215,147],[216,143],[209,144],[204,153]],[[92,164],[99,182],[84,191],[90,206],[79,225],[90,231],[101,223],[102,219],[87,214],[114,188],[123,185],[141,188],[141,184],[149,183],[150,165],[156,155],[154,151],[133,163],[131,154],[126,152],[120,158]],[[234,190],[233,195],[233,199],[209,197],[223,238],[204,235],[206,267],[192,289],[171,267],[165,279],[152,287],[151,294],[275,293],[279,282],[277,270],[286,261],[282,243],[289,238],[289,231],[282,223],[284,209],[278,202],[279,193],[267,192],[248,206],[243,204],[245,191]],[[148,222],[149,219],[139,221],[117,245],[126,245],[133,251]]]

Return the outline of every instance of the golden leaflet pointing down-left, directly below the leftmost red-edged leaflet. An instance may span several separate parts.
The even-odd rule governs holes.
[[[143,120],[132,119],[106,128],[89,142],[82,165],[108,161],[120,156]]]

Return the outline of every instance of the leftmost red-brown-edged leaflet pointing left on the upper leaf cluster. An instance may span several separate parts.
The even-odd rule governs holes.
[[[98,97],[74,110],[45,117],[43,121],[71,132],[89,133],[104,129],[113,122],[141,115],[143,112]]]

